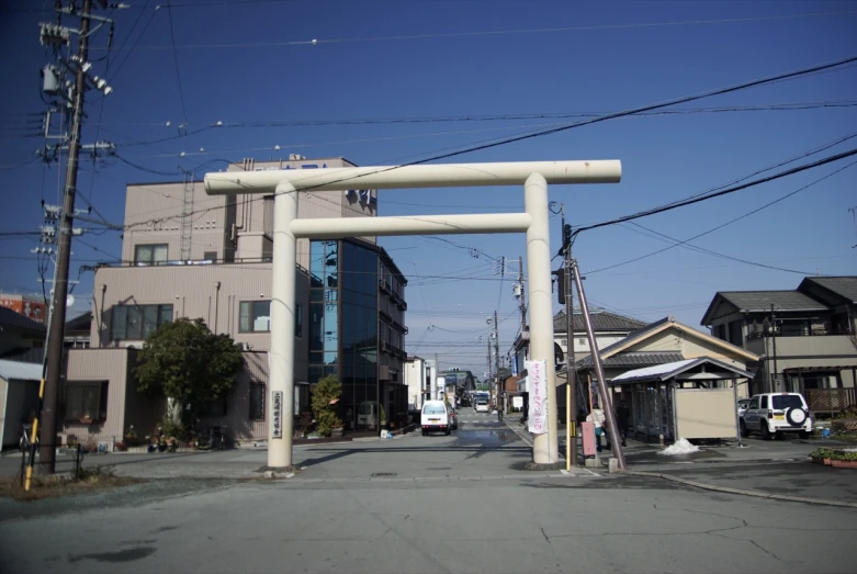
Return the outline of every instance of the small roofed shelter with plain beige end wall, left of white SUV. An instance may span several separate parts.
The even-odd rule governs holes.
[[[737,385],[753,373],[699,357],[628,371],[609,385],[631,413],[629,432],[646,439],[729,439],[738,434]]]

